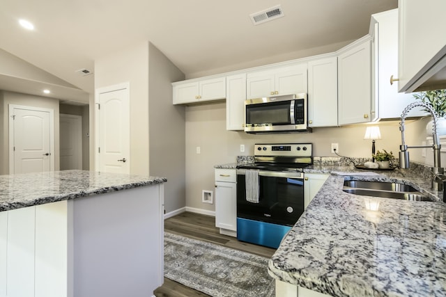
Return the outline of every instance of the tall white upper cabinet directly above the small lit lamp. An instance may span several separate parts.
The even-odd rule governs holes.
[[[388,10],[371,16],[370,33],[374,37],[374,102],[373,120],[401,117],[403,109],[415,102],[412,93],[398,93],[398,84],[390,79],[398,77],[398,10]],[[410,116],[425,115],[420,109]]]

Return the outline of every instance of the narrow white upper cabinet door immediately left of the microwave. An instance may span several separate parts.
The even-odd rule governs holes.
[[[226,77],[226,130],[243,130],[245,125],[246,74]]]

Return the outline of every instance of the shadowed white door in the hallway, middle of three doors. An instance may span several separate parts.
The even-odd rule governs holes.
[[[82,116],[59,116],[61,170],[82,169]]]

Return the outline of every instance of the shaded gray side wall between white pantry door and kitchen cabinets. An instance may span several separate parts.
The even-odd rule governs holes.
[[[148,54],[149,173],[167,177],[168,213],[185,207],[185,106],[172,104],[171,86],[184,74],[151,43]]]

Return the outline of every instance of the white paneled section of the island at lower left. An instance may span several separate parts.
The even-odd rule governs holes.
[[[0,212],[0,296],[67,296],[67,201]]]

